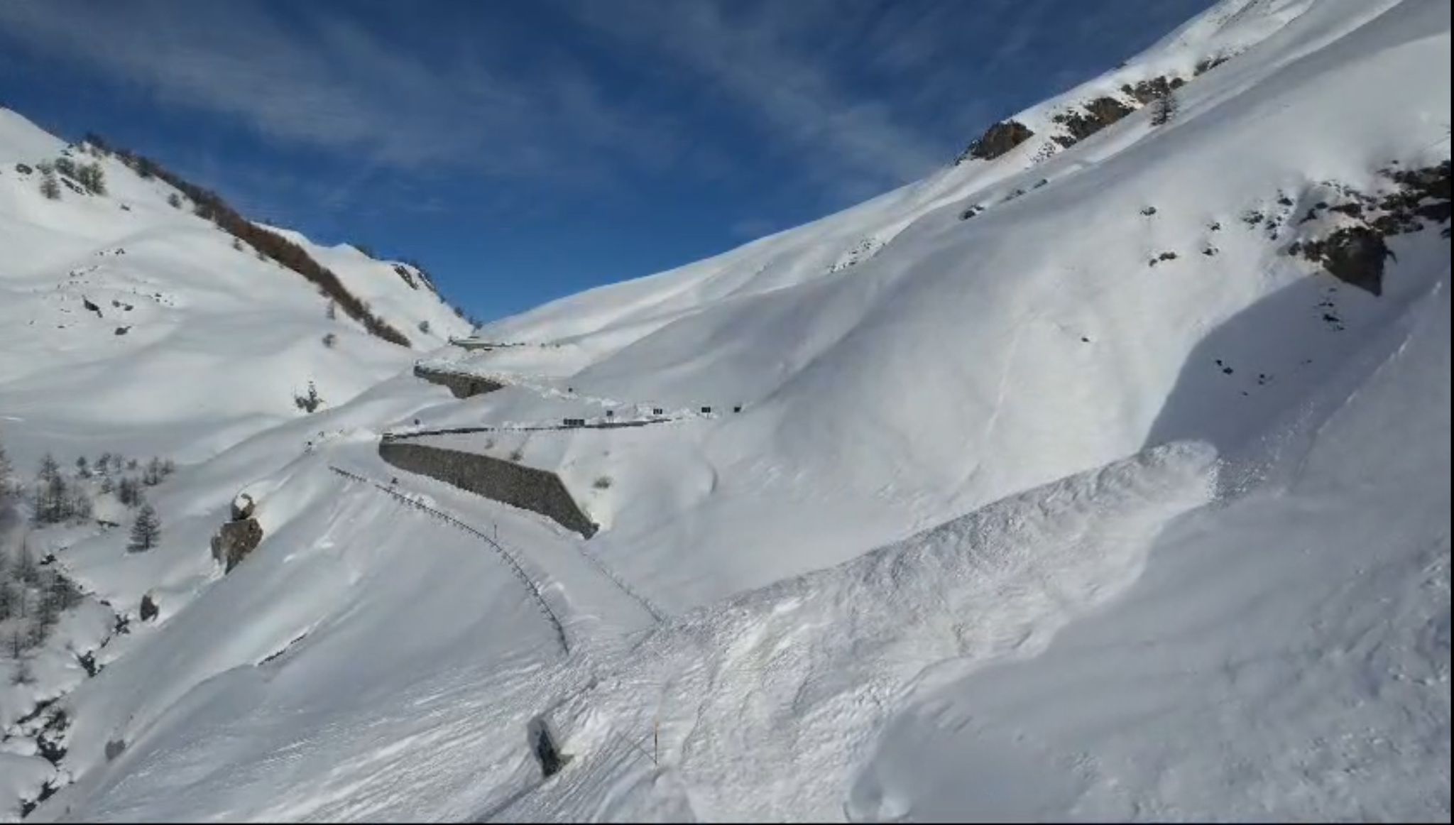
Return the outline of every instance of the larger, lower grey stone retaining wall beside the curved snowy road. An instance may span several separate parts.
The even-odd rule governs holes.
[[[599,530],[580,511],[576,499],[571,498],[555,473],[478,453],[443,450],[397,439],[381,441],[378,454],[400,470],[429,476],[487,499],[538,512],[586,538]]]

